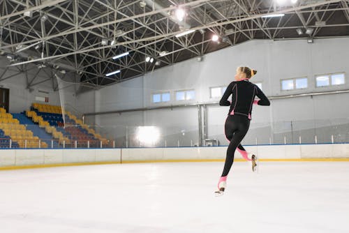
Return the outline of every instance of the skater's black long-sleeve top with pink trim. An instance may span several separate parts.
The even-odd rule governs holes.
[[[228,101],[229,96],[232,95],[232,103]],[[229,106],[230,115],[242,114],[251,119],[252,105],[255,96],[258,96],[258,105],[269,106],[270,102],[265,94],[255,84],[248,80],[230,82],[225,90],[219,105]]]

